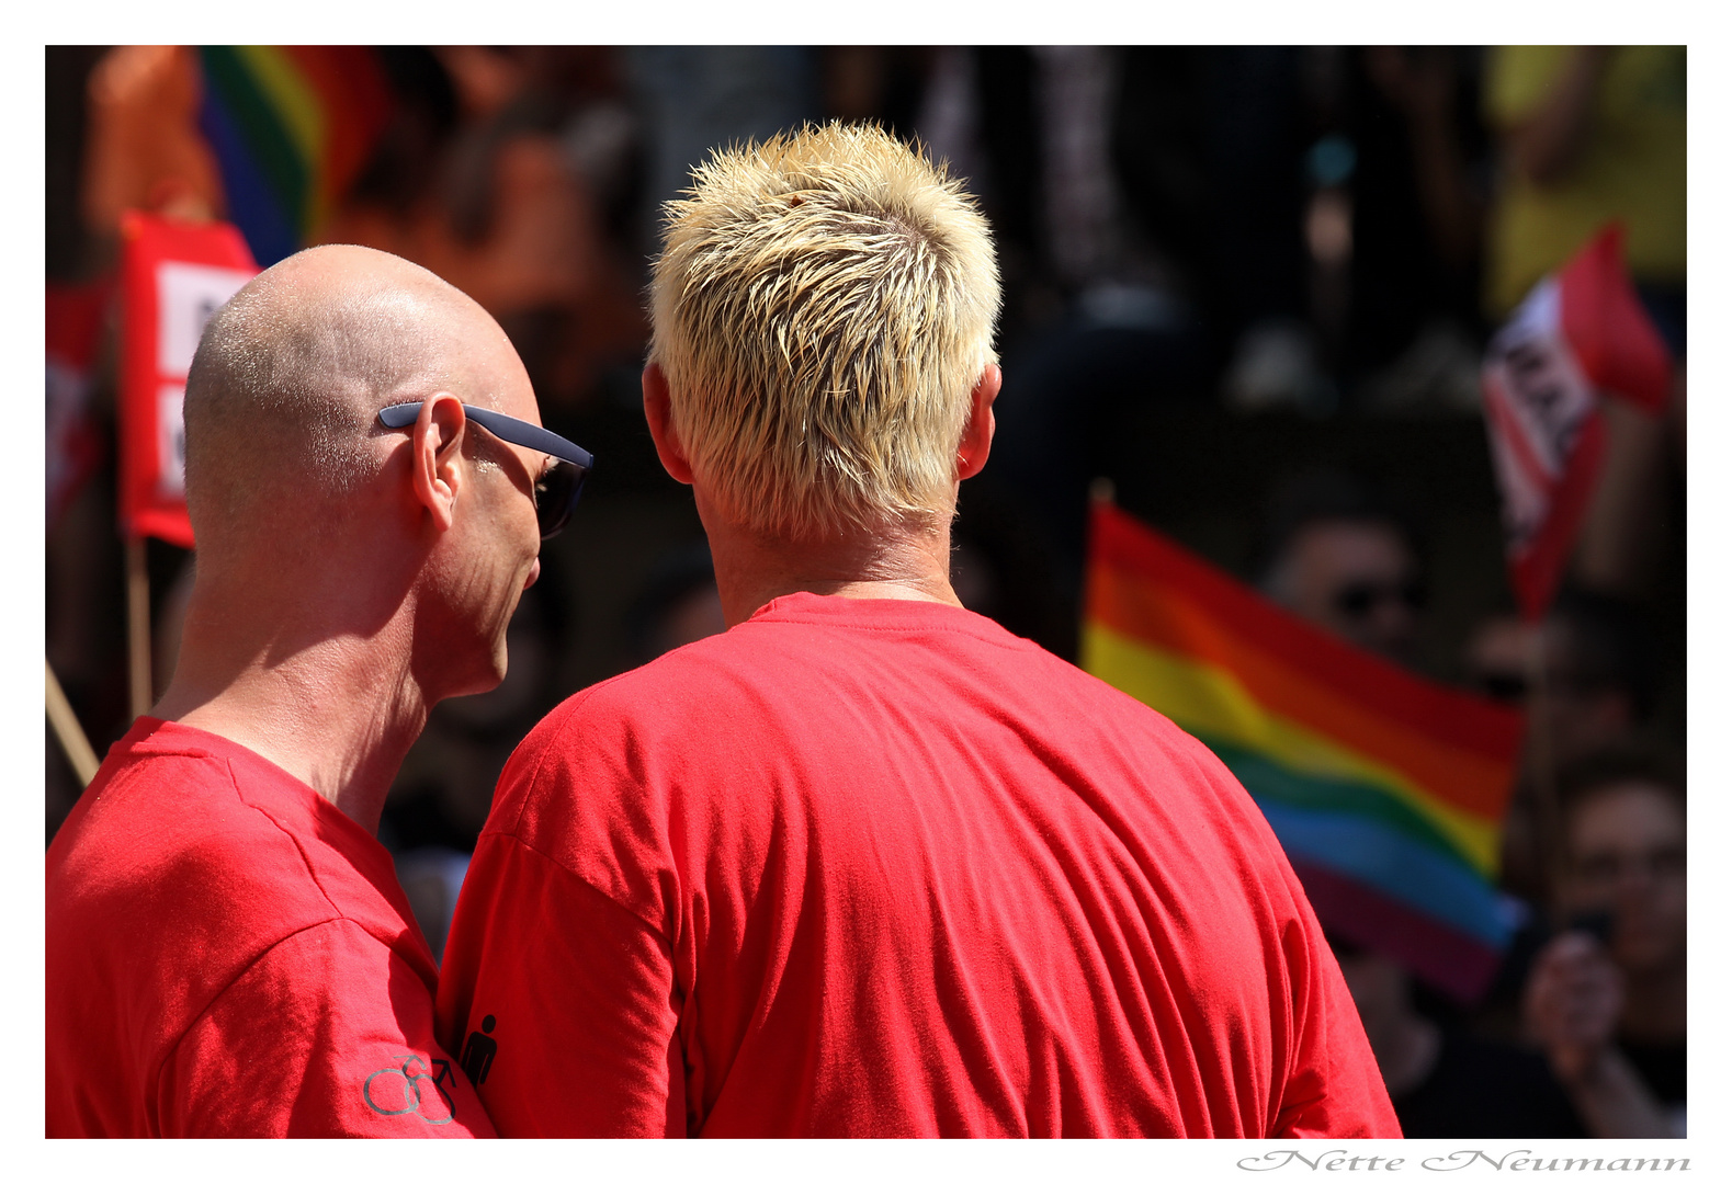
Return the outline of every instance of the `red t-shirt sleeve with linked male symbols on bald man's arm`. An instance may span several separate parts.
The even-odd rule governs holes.
[[[270,947],[175,1044],[158,1077],[168,1137],[490,1137],[433,1039],[426,981],[353,921]]]

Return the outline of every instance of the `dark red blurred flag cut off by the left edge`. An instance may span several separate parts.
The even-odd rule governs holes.
[[[48,282],[43,325],[48,372],[48,530],[102,464],[90,379],[113,284]]]

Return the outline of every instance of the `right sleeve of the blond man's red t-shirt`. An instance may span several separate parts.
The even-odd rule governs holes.
[[[1401,1123],[1323,931],[1301,916],[1283,938],[1296,1042],[1271,1137],[1399,1139]]]

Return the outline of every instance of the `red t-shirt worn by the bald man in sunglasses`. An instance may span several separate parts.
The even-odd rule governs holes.
[[[50,1137],[494,1134],[390,853],[241,744],[140,718],[47,905]]]

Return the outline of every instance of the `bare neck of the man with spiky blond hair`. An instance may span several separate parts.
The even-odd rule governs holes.
[[[738,625],[779,595],[816,592],[961,606],[951,589],[951,528],[904,528],[833,538],[766,538],[714,512],[700,499],[710,537],[722,618]]]

